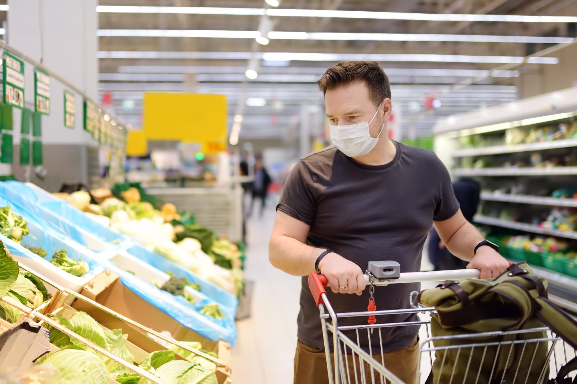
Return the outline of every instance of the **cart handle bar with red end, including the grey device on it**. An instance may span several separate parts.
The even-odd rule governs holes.
[[[425,281],[463,280],[464,278],[479,278],[478,269],[433,270],[430,272],[400,272],[400,264],[396,261],[369,261],[367,272],[374,276],[373,285],[388,285],[400,283],[424,283]],[[369,274],[365,274],[365,282],[369,284]],[[324,274],[311,272],[309,274],[309,288],[314,301],[323,303],[324,287],[328,281]]]

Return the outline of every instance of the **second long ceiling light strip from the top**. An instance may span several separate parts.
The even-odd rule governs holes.
[[[265,23],[272,23],[263,16]],[[493,36],[493,35],[442,35],[437,33],[349,33],[349,32],[284,32],[271,31],[265,25],[259,31],[221,31],[212,29],[98,29],[97,36],[122,37],[215,37],[220,39],[256,39],[263,44],[268,39],[279,40],[364,40],[393,42],[466,42],[466,43],[545,43],[570,44],[573,37],[549,36]],[[260,29],[259,29],[260,30]],[[268,43],[267,43],[268,44]]]

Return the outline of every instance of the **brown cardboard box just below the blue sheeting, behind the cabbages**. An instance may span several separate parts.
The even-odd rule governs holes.
[[[76,298],[74,303],[71,304],[72,308],[85,311],[101,325],[113,329],[121,327],[123,333],[129,334],[129,340],[131,340],[133,334],[150,333],[154,337],[171,342],[196,355],[203,356],[217,364],[216,377],[219,384],[231,382],[230,344],[222,340],[209,340],[194,332],[194,330],[180,325],[163,311],[122,285],[118,274],[107,270],[93,278],[84,287],[80,295],[68,289],[65,289],[65,293],[69,298],[71,296]],[[160,332],[162,331],[170,332],[172,338],[161,334]],[[148,338],[148,336],[146,337]],[[138,340],[140,338],[135,336],[133,342],[136,344]],[[192,349],[178,341],[201,342],[203,349],[216,353],[218,359],[214,359],[212,356]],[[144,347],[141,348],[144,349]],[[154,350],[158,351],[158,348]]]

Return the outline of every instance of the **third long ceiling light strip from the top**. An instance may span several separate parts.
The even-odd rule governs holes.
[[[449,63],[522,63],[557,64],[556,57],[437,55],[437,54],[320,54],[310,52],[182,52],[182,51],[99,51],[101,59],[213,59],[249,60],[251,57],[266,61],[346,61],[374,60],[383,62],[449,62]]]

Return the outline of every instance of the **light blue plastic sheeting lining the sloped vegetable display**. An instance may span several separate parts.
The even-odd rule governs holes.
[[[211,340],[224,340],[234,345],[237,337],[234,314],[237,310],[238,299],[231,293],[196,276],[177,263],[136,245],[132,240],[126,239],[125,236],[118,234],[112,228],[91,219],[68,204],[68,202],[59,201],[37,187],[19,182],[0,182],[0,197],[0,206],[12,206],[15,213],[23,216],[25,220],[31,223],[31,227],[43,228],[42,231],[36,231],[36,229],[31,231],[32,236],[29,239],[27,237],[30,235],[25,236],[23,242],[25,245],[40,246],[46,249],[48,260],[57,249],[64,248],[70,252],[69,256],[71,258],[80,258],[88,262],[91,272],[92,270],[110,268],[121,276],[123,285],[170,315],[183,326],[189,327]],[[63,214],[64,219],[58,216],[59,214]],[[109,236],[108,232],[113,232],[117,236],[115,239],[121,239],[121,243],[108,243],[107,249],[102,252],[100,257],[85,247],[87,233],[97,234],[102,239],[113,238],[114,236],[107,237]],[[18,244],[12,246],[12,248],[10,251],[14,251],[16,254],[40,258]],[[129,254],[149,263],[162,272],[170,271],[175,276],[186,277],[190,283],[200,285],[201,292],[207,299],[193,305],[182,297],[171,295],[171,293],[162,291],[155,285],[125,272],[109,259],[103,257],[104,252],[114,252],[117,249],[126,249]],[[197,312],[204,304],[212,302],[219,304],[226,318],[215,319]]]

